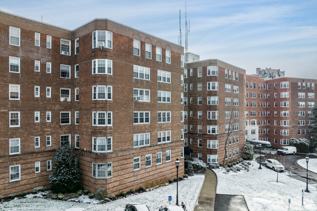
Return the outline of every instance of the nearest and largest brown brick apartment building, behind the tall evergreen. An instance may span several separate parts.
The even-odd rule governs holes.
[[[0,12],[0,195],[49,186],[71,144],[107,195],[183,165],[183,47],[109,19],[75,30]]]

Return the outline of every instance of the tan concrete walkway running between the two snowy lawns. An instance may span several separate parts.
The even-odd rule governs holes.
[[[216,188],[217,176],[212,170],[207,169],[205,181],[199,193],[198,205],[196,205],[194,211],[214,211]]]

